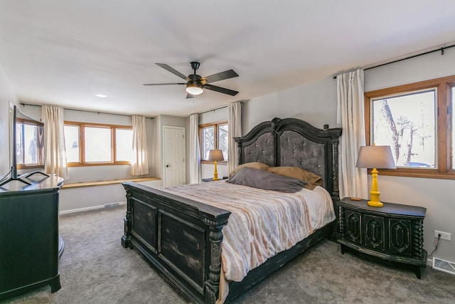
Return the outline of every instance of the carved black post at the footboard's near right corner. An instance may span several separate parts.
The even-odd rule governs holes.
[[[224,225],[223,225],[224,226]],[[223,226],[210,226],[210,273],[205,282],[205,303],[215,304],[220,293],[221,271],[221,241],[223,241]]]

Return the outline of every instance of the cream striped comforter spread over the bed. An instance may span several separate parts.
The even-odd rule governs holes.
[[[221,246],[228,281],[242,281],[267,258],[335,219],[331,196],[322,187],[282,193],[218,181],[161,190],[231,211]]]

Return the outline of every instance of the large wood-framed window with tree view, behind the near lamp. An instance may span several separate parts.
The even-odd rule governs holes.
[[[381,174],[455,179],[455,76],[365,93],[367,144],[390,145]]]

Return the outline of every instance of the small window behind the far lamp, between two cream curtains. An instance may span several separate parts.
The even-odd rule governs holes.
[[[228,160],[228,122],[218,122],[199,126],[200,159],[208,161],[210,150],[223,151],[223,157]]]

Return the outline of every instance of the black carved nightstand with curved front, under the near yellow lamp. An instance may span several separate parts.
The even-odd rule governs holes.
[[[421,278],[427,266],[423,248],[423,221],[427,209],[384,203],[368,206],[362,199],[338,201],[338,243],[341,253],[350,251],[390,266],[408,268]]]

